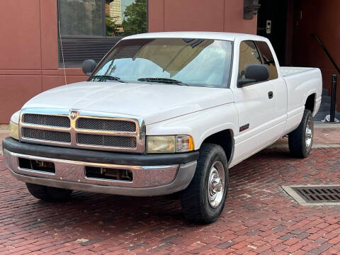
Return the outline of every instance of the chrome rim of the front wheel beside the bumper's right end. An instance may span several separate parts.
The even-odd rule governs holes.
[[[225,168],[219,161],[212,164],[208,178],[208,199],[212,208],[222,202],[225,192]]]

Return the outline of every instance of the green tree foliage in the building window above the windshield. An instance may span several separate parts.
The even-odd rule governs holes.
[[[136,0],[124,11],[125,19],[123,29],[125,35],[145,33],[147,31],[147,2],[146,0]]]

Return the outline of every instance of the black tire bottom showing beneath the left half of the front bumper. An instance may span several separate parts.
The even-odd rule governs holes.
[[[48,202],[66,201],[72,193],[71,190],[64,188],[53,188],[33,183],[26,183],[26,186],[32,196]]]

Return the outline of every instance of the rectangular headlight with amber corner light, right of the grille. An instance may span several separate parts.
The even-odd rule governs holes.
[[[193,138],[190,135],[147,136],[147,153],[190,152]]]

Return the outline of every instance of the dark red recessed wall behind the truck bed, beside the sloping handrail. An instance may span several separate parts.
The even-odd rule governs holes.
[[[312,37],[316,33],[340,66],[340,1],[339,0],[295,0],[293,24],[293,64],[302,67],[319,67],[322,70],[324,88],[331,85],[331,74],[336,69]],[[340,80],[340,74],[338,77]],[[339,82],[340,84],[340,82]],[[337,90],[340,101],[340,86]],[[340,103],[338,110],[340,111]]]

